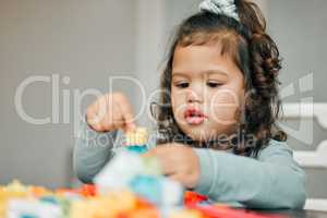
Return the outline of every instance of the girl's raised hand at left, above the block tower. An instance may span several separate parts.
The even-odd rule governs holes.
[[[134,116],[125,95],[110,93],[99,97],[87,108],[88,125],[98,132],[109,132],[122,129],[124,132],[134,131]]]

